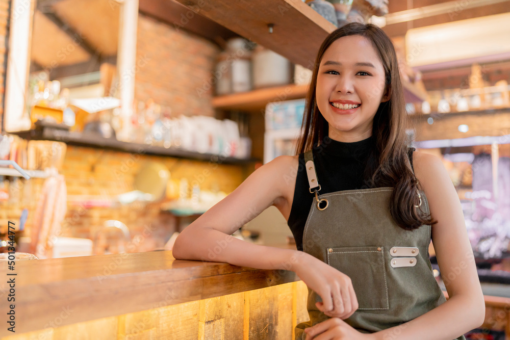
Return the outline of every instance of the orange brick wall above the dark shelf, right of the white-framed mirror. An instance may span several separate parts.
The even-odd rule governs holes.
[[[170,107],[173,116],[214,116],[213,88],[204,84],[211,77],[219,47],[141,13],[137,39],[136,100],[152,98]]]

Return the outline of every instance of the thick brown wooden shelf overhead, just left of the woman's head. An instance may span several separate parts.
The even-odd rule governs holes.
[[[307,68],[313,67],[322,41],[337,29],[301,0],[177,2]]]

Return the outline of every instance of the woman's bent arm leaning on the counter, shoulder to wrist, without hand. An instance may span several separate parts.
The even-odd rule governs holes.
[[[231,235],[267,207],[292,202],[297,167],[297,156],[279,156],[254,171],[179,234],[173,256],[257,269],[292,270],[303,252],[255,245]]]

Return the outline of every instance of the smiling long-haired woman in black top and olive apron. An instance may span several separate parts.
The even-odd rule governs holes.
[[[460,201],[441,160],[406,147],[405,127],[391,40],[371,24],[339,28],[319,49],[298,155],[260,167],[188,226],[175,258],[296,272],[310,315],[296,339],[463,339],[484,301]],[[270,205],[298,250],[230,236]]]

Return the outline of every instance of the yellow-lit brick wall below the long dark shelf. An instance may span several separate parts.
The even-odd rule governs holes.
[[[243,167],[239,165],[219,164],[216,167],[209,162],[68,146],[61,170],[67,186],[67,214],[60,236],[94,239],[103,223],[114,219],[123,222],[130,229],[136,251],[162,247],[177,226],[172,215],[161,212],[161,203],[112,203],[111,206],[87,204],[91,201],[112,201],[116,195],[134,190],[134,177],[148,161],[163,163],[169,169],[170,178],[174,182],[187,178],[192,184],[194,180],[198,180],[201,190],[219,189],[230,193],[244,179]],[[205,169],[209,171],[208,176],[200,176]],[[28,208],[25,235],[30,235],[44,179],[16,180],[15,184],[11,180],[10,185],[18,190],[11,188],[10,193],[17,196],[0,202],[0,231],[6,231],[4,229],[7,228],[8,221],[17,224],[22,209]],[[25,186],[29,188],[24,190]]]

